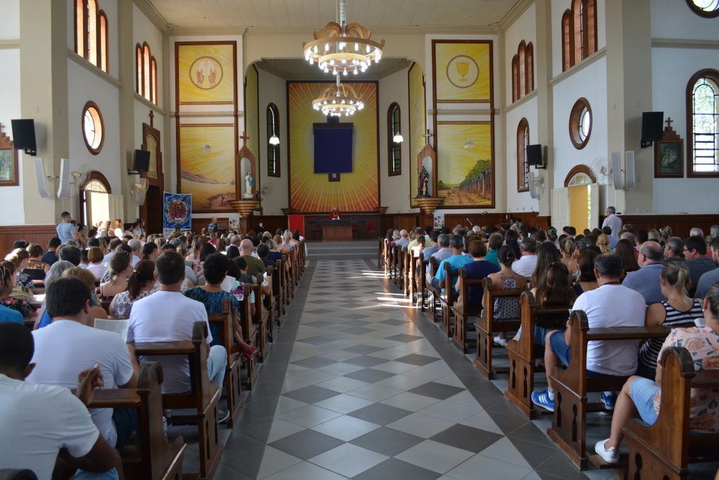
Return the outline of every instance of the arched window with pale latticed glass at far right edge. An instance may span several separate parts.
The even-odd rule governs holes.
[[[687,83],[687,175],[719,176],[719,71],[700,70]]]

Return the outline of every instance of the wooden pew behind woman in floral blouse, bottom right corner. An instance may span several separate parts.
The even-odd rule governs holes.
[[[661,389],[659,417],[654,425],[630,420],[622,429],[629,447],[628,479],[684,479],[689,463],[719,460],[719,433],[689,431],[690,391],[718,388],[719,370],[695,371],[682,347],[666,349],[660,363],[661,384],[671,388]]]

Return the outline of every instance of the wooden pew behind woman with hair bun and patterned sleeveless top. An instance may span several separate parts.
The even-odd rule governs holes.
[[[507,297],[513,297],[519,301],[520,295],[526,290],[503,290],[502,285],[494,285],[489,278],[485,278],[482,282],[485,287],[485,295],[482,297],[482,316],[475,321],[475,331],[477,331],[475,366],[488,379],[493,379],[495,374],[503,374],[509,371],[506,367],[495,368],[492,366],[493,333],[516,331],[521,325],[520,319],[495,322],[494,301],[496,298]]]

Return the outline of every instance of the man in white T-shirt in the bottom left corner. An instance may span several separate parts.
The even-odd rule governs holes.
[[[77,397],[63,387],[23,382],[35,364],[32,334],[18,323],[0,323],[0,469],[32,469],[50,480],[60,454],[83,469],[83,478],[117,479],[119,453],[102,438],[86,404],[102,385],[100,369],[80,372]]]

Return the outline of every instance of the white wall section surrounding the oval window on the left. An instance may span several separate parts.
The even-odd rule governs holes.
[[[93,155],[87,149],[81,131],[83,107],[88,101],[99,106],[104,120],[104,144],[99,154]],[[120,148],[119,91],[112,83],[68,60],[68,135],[70,146],[70,168],[101,172],[110,183],[112,193],[121,194],[121,175],[127,175],[124,155]],[[51,185],[52,186],[52,185]],[[57,188],[57,187],[55,187]],[[78,216],[78,185],[70,185],[71,197],[63,202],[63,209]],[[70,210],[71,208],[71,210]],[[79,218],[79,216],[77,217]]]

